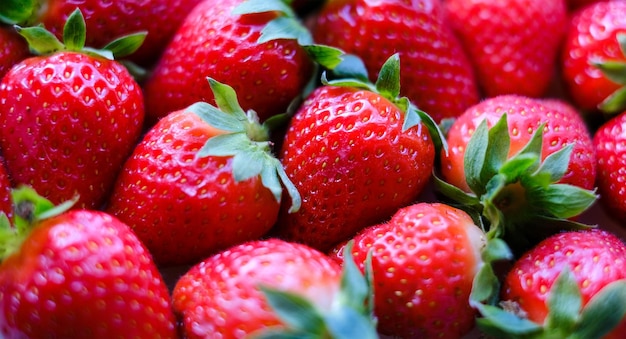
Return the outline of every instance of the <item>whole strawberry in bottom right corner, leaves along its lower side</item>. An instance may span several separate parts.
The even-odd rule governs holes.
[[[626,245],[602,230],[548,237],[515,262],[500,306],[479,319],[495,337],[623,338]]]

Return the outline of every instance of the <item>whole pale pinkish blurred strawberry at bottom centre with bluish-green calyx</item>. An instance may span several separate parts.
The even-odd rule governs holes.
[[[176,283],[185,338],[377,338],[371,285],[308,246],[278,239],[233,246]]]

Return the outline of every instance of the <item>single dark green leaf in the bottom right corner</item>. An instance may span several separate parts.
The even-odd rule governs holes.
[[[602,288],[582,310],[578,329],[572,338],[602,338],[620,324],[626,315],[626,281],[614,281]]]

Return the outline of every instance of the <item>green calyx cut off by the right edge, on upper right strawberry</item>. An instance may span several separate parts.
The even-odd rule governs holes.
[[[617,34],[617,42],[622,55],[626,58],[626,34]],[[600,60],[591,61],[591,64],[600,69],[607,79],[622,86],[600,103],[600,110],[609,115],[626,110],[626,62],[623,60]]]

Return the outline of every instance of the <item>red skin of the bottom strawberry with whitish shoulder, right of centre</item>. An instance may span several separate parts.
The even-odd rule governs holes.
[[[473,328],[476,311],[469,294],[483,264],[480,251],[486,238],[467,213],[441,203],[416,203],[352,240],[362,270],[372,250],[380,333],[460,338]],[[339,262],[343,246],[331,251]]]

